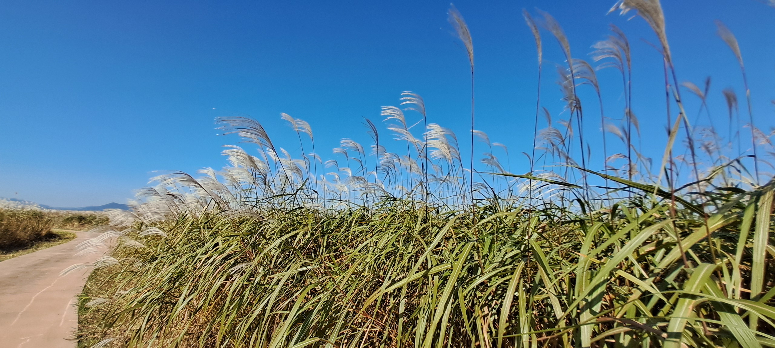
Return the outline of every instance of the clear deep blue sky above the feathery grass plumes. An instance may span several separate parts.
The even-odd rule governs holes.
[[[641,40],[655,39],[642,19],[605,15],[613,3],[456,2],[474,36],[477,128],[510,147],[513,172],[525,172],[525,158],[517,154],[529,152],[536,93],[536,49],[520,11],[536,6],[564,27],[577,58],[588,58],[609,22],[625,30],[633,44],[633,107],[648,135],[644,146],[653,148],[648,155],[660,155],[662,65]],[[213,119],[238,112],[257,118],[275,142],[296,153],[279,114],[305,119],[318,152],[330,158],[339,138],[366,143],[362,117],[381,121],[380,107],[398,104],[402,90],[422,94],[429,121],[465,137],[467,58],[450,35],[448,7],[445,1],[6,0],[0,5],[0,196],[53,206],[123,203],[153,171],[224,165],[220,145],[237,139],[218,136]],[[769,128],[775,9],[754,0],[663,7],[678,78],[701,84],[713,77],[711,112],[719,120],[726,112],[722,88],[743,94],[735,58],[713,21],[735,32],[756,121]],[[555,118],[567,118],[560,114],[552,63],[564,59],[548,32],[543,35],[543,104]],[[600,75],[606,111],[618,116],[618,77],[613,70]],[[588,92],[581,97],[596,114]],[[696,114],[696,98],[684,98],[688,113]]]

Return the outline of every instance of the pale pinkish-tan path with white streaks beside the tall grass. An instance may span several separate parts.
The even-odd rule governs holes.
[[[76,295],[91,268],[60,276],[60,271],[98,254],[75,257],[76,246],[88,237],[0,262],[0,346],[13,348],[72,348],[77,329]]]

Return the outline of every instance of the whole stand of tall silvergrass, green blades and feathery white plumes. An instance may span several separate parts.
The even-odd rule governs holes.
[[[606,117],[598,69],[573,58],[551,15],[525,12],[537,83],[548,32],[568,62],[558,73],[566,97],[552,122],[537,95],[530,172],[509,172],[494,155],[508,159],[505,145],[475,128],[474,45],[452,8],[470,63],[471,138],[429,123],[412,92],[382,107],[398,142],[367,120],[373,143],[344,138],[327,161],[310,125],[288,114],[298,159],[260,122],[220,119],[224,134],[259,151],[226,145],[220,171],[157,176],[133,211],[108,212],[118,228],[81,244],[108,254],[69,268],[95,267],[81,295],[79,344],[775,346],[775,183],[766,172],[775,148],[751,107],[738,112],[751,91],[746,85],[740,101],[732,90],[719,94],[728,135],[690,124],[680,95],[694,94],[707,111],[710,82],[677,80],[660,2],[625,0],[613,10],[645,19],[663,54],[662,158],[640,151],[622,29],[611,26],[591,59],[623,80],[611,88],[624,104]],[[732,32],[718,22],[718,33],[742,68]],[[598,91],[588,109],[582,88]],[[596,152],[587,150],[593,137],[603,144]],[[461,155],[468,141],[487,146],[479,165]]]

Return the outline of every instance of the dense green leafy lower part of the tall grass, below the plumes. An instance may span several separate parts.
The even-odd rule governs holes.
[[[755,332],[775,333],[775,290],[749,289],[775,279],[757,254],[772,189],[715,195],[707,224],[647,196],[587,213],[480,206],[475,225],[402,202],[140,223],[88,283],[81,342],[771,345]]]

